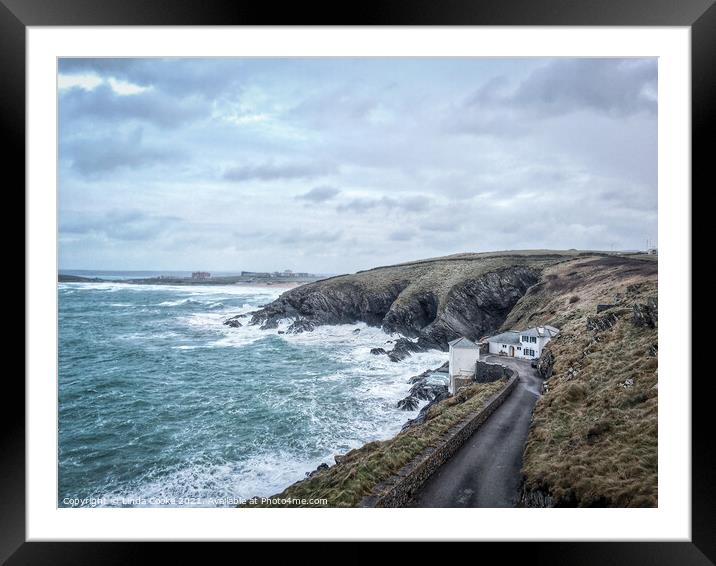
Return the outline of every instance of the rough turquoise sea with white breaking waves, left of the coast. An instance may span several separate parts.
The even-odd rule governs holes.
[[[118,277],[121,279],[121,277]],[[365,324],[230,328],[283,289],[61,283],[58,505],[221,506],[273,495],[398,432],[407,380]]]

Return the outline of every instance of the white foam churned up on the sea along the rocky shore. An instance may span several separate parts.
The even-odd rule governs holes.
[[[95,289],[98,284],[71,285],[85,285]],[[115,289],[135,291],[139,288],[147,290],[148,287],[103,285],[106,285],[106,291],[112,293]],[[276,415],[277,420],[284,414],[283,408],[286,408],[290,410],[292,418],[310,423],[305,438],[292,436],[290,443],[285,443],[285,439],[278,436],[267,442],[268,439],[258,435],[255,441],[248,442],[246,451],[237,461],[226,462],[220,457],[214,459],[212,454],[221,453],[216,447],[207,449],[202,445],[201,449],[198,449],[195,445],[183,446],[179,436],[176,442],[172,436],[170,444],[175,446],[181,464],[165,463],[165,467],[157,465],[156,468],[122,484],[105,484],[105,487],[100,489],[95,487],[95,491],[99,492],[96,495],[125,499],[200,497],[206,500],[215,497],[273,495],[302,479],[306,472],[315,469],[318,464],[332,464],[333,455],[336,453],[343,453],[371,440],[385,439],[396,434],[405,421],[417,413],[396,409],[397,401],[405,397],[410,388],[408,378],[426,369],[437,368],[447,359],[447,355],[439,351],[415,353],[400,362],[391,362],[386,355],[373,355],[370,353],[372,348],[383,347],[389,350],[392,344],[387,342],[394,342],[400,336],[386,334],[382,329],[364,323],[319,326],[312,332],[295,335],[279,334],[279,331],[285,332],[290,320],[281,321],[278,328],[271,330],[261,330],[257,325],[248,324],[248,317],[241,319],[242,326],[238,328],[224,324],[228,318],[250,313],[260,304],[276,298],[280,291],[275,289],[251,289],[242,286],[232,287],[227,291],[224,286],[154,287],[157,291],[163,291],[164,295],[154,301],[151,297],[148,300],[142,297],[133,307],[151,303],[154,311],[158,313],[156,317],[139,320],[128,332],[117,337],[123,341],[136,342],[138,351],[140,348],[156,351],[167,347],[171,350],[241,349],[270,338],[285,342],[287,350],[295,351],[296,347],[299,347],[299,350],[315,350],[319,356],[312,359],[327,359],[330,362],[326,364],[324,372],[319,370],[316,375],[304,373],[297,375],[295,381],[287,375],[286,380],[278,386],[280,393],[271,389],[276,387],[277,382],[269,383],[265,388],[256,383],[236,382],[241,388],[255,388],[251,393],[251,407],[262,403],[270,414]],[[246,297],[245,301],[241,297]],[[125,296],[121,299],[125,299]],[[107,303],[110,300],[107,297]],[[129,300],[131,301],[131,298]],[[191,305],[191,308],[184,308],[187,305]],[[176,314],[172,309],[176,309]],[[198,312],[187,312],[191,310]],[[137,312],[137,309],[132,308],[128,312]],[[281,342],[277,344],[280,345]],[[288,347],[289,345],[291,347]],[[182,359],[191,357],[201,360],[201,355],[192,352],[182,356]],[[311,357],[310,354],[308,357]],[[187,389],[187,393],[194,397],[188,398],[198,399],[199,406],[205,392],[206,395],[240,399],[239,390],[232,390],[234,382],[230,380],[224,380],[220,393],[216,391],[218,382],[215,379],[207,381],[197,378],[190,383],[194,385]],[[226,387],[227,383],[229,387]],[[333,397],[327,395],[334,395],[337,404],[333,404]],[[183,401],[175,399],[174,402]],[[231,400],[227,403],[225,414],[251,414],[242,412],[250,410],[251,407]],[[340,407],[349,407],[349,412],[341,412]],[[201,429],[204,425],[216,427],[214,421],[199,419],[193,422],[194,428],[191,432],[196,434],[197,427]],[[181,425],[171,426],[176,426],[177,435],[184,434]],[[215,438],[216,442],[221,443],[220,446],[225,447],[235,441],[233,432],[210,432],[212,434],[205,434],[203,437]],[[157,430],[147,432],[149,435],[157,433]],[[226,434],[228,436],[225,436]],[[141,445],[143,440],[138,437],[132,444],[134,442]],[[197,458],[198,453],[203,455]]]

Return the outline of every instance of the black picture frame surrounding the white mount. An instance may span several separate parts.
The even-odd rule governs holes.
[[[0,124],[6,149],[6,186],[24,186],[25,34],[28,26],[115,25],[538,25],[686,26],[692,38],[692,187],[704,185],[716,111],[716,6],[714,0],[364,0],[282,3],[193,0],[0,0]],[[10,175],[9,178],[7,177]],[[48,313],[48,317],[52,315]],[[691,368],[682,378],[690,379]],[[692,381],[692,538],[690,542],[486,543],[501,561],[532,564],[680,564],[716,562],[716,462],[711,439],[708,379]],[[165,543],[25,542],[24,383],[6,372],[0,418],[0,563],[126,564],[201,557],[224,549]],[[11,406],[14,409],[11,409]],[[320,533],[316,534],[320,538]],[[555,533],[559,538],[559,533]],[[224,545],[221,545],[224,546]],[[419,549],[420,547],[418,547]],[[149,552],[152,550],[153,552]],[[422,552],[422,550],[418,550]],[[319,551],[325,553],[326,550]],[[328,551],[330,552],[330,550]],[[195,554],[196,553],[196,554]],[[410,552],[409,552],[410,554]],[[334,556],[335,558],[335,556]],[[405,558],[405,557],[403,557]],[[233,559],[241,559],[233,556]]]

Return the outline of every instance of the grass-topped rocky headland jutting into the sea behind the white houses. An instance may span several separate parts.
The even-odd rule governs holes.
[[[447,350],[500,328],[542,271],[574,259],[569,252],[462,254],[380,267],[309,283],[252,313],[249,324],[288,332],[365,322],[405,338],[386,352],[394,361],[429,348]],[[234,323],[229,319],[227,324]]]

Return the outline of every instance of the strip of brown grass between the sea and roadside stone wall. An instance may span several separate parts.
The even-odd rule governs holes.
[[[482,408],[504,385],[505,381],[500,380],[461,389],[456,395],[433,406],[425,423],[390,440],[371,442],[351,450],[340,459],[340,463],[289,486],[272,498],[326,499],[326,507],[356,506],[378,484],[427,447],[435,446],[448,430]]]

